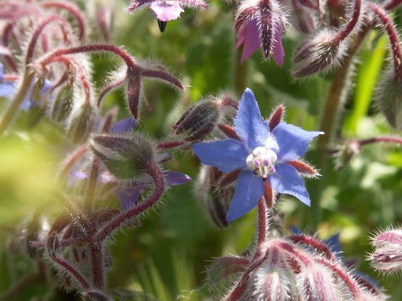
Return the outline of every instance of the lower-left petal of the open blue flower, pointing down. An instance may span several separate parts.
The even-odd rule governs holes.
[[[250,170],[241,171],[226,220],[233,221],[242,217],[256,207],[262,195],[264,195],[264,182],[261,177],[256,177]]]

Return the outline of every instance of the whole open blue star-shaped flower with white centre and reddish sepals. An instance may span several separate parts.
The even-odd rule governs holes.
[[[310,141],[322,132],[304,131],[280,122],[281,114],[274,113],[271,120],[269,124],[262,120],[253,92],[246,89],[234,119],[237,139],[195,143],[193,146],[203,164],[239,175],[227,221],[249,212],[260,197],[265,195],[267,199],[267,192],[272,190],[293,195],[310,206],[310,196],[299,173],[317,173],[298,159],[307,151]]]

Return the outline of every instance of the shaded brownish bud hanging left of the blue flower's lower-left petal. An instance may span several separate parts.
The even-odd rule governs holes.
[[[219,177],[222,176],[217,168],[204,165],[195,184],[195,196],[208,212],[208,215],[219,228],[228,226],[226,215],[229,203],[234,195],[234,187],[225,186],[217,189]]]

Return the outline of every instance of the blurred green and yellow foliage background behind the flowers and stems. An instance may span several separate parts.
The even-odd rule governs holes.
[[[284,104],[286,121],[307,130],[317,130],[321,118],[325,118],[320,113],[331,75],[308,81],[290,77],[291,53],[301,38],[291,28],[283,41],[283,66],[263,62],[261,50],[239,65],[230,4],[214,0],[205,11],[186,9],[178,20],[168,22],[165,33],[160,33],[151,11],[143,9],[128,15],[124,13],[126,1],[115,3],[115,44],[124,45],[138,58],[161,60],[188,84],[180,93],[162,83],[147,82],[145,94],[152,109],[143,108],[139,131],[165,138],[180,112],[192,103],[227,90],[239,97],[245,87],[254,91],[263,116],[268,117],[276,105]],[[84,7],[85,1],[81,5]],[[402,24],[401,12],[399,9],[396,13],[398,25]],[[387,63],[387,51],[386,38],[376,32],[362,45],[350,83],[351,94],[335,134],[339,144],[331,147],[350,138],[395,134],[377,114],[372,99],[376,79]],[[109,56],[93,56],[98,87],[117,63]],[[103,109],[113,106],[121,108],[121,118],[128,116],[122,91],[110,94]],[[33,123],[36,126],[31,128]],[[74,149],[65,141],[63,128],[32,111],[22,112],[14,129],[11,135],[0,138],[0,294],[33,269],[31,260],[17,248],[19,229],[35,212],[52,220],[63,209],[50,198],[49,191],[55,188],[60,162]],[[322,171],[320,180],[307,180],[313,207],[320,204],[320,216],[314,217],[314,210],[297,199],[283,196],[278,212],[284,214],[284,234],[290,233],[290,226],[316,233],[320,239],[339,233],[344,258],[354,258],[357,270],[375,278],[393,295],[392,300],[402,300],[401,278],[384,278],[365,261],[371,251],[370,236],[402,223],[401,148],[366,146],[342,170],[335,170],[335,160],[314,147],[307,159]],[[254,238],[255,210],[229,227],[218,229],[193,193],[200,171],[197,158],[178,151],[165,167],[186,173],[193,180],[172,187],[142,226],[126,228],[116,236],[109,283],[112,287],[144,290],[158,300],[217,300],[203,286],[205,267],[214,257],[243,253],[249,248]],[[108,199],[106,204],[119,207],[116,199]],[[33,300],[33,296],[44,296],[47,291],[45,284],[32,285],[21,300]],[[55,292],[53,298],[70,300],[71,296]]]

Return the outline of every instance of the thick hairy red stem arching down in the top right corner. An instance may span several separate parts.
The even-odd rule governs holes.
[[[369,2],[369,8],[376,14],[376,17],[379,18],[382,25],[384,26],[386,33],[389,37],[389,43],[391,44],[392,58],[393,58],[393,70],[395,72],[396,77],[399,79],[402,78],[402,49],[401,42],[399,41],[398,32],[396,31],[395,26],[393,26],[391,18],[389,18],[388,14],[381,6]]]

